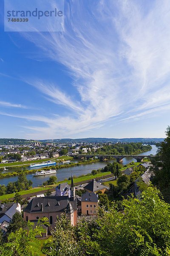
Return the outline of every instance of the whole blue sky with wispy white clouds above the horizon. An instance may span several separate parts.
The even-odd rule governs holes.
[[[169,0],[65,0],[65,32],[4,32],[0,10],[1,138],[164,137]]]

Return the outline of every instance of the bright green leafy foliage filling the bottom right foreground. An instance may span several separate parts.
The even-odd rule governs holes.
[[[170,209],[156,188],[148,187],[141,200],[122,201],[125,215],[113,206],[99,208],[94,218],[72,227],[64,215],[57,219],[46,256],[170,256]]]

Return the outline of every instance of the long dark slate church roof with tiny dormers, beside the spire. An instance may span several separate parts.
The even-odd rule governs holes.
[[[32,198],[24,212],[65,212],[65,210],[66,213],[77,210],[77,201],[70,201],[68,195]]]

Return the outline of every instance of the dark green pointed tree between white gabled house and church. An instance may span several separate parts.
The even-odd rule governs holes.
[[[19,212],[15,212],[9,226],[7,227],[7,235],[19,230],[21,227],[26,227],[26,225],[27,222],[23,220],[21,214]]]

